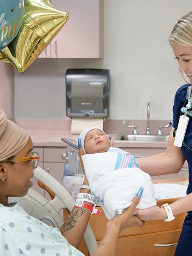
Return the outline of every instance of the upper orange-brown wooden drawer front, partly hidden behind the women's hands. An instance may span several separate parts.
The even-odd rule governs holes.
[[[176,201],[178,198],[174,199],[165,199],[165,200],[157,200],[157,205],[161,206],[162,204],[168,203],[172,204],[172,202]],[[102,211],[101,207],[98,207]],[[155,220],[155,221],[146,221],[143,227],[138,227],[136,225],[132,227],[128,227],[125,230],[122,230],[119,237],[125,236],[133,236],[140,234],[149,234],[161,231],[169,231],[169,230],[178,230],[183,226],[183,221],[185,219],[186,213],[182,213],[176,216],[175,221],[164,222],[163,220]],[[108,220],[105,217],[104,212],[102,211],[102,215],[93,214],[90,216],[90,225],[93,229],[96,240],[102,239],[105,234],[106,224]]]

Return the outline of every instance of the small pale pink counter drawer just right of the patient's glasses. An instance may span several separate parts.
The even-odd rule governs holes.
[[[66,148],[44,147],[44,162],[64,162]]]

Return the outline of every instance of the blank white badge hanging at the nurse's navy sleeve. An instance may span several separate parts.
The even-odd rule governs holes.
[[[178,127],[177,127],[177,133],[175,136],[175,141],[174,141],[174,146],[181,148],[185,133],[186,133],[186,128],[189,122],[189,117],[182,115],[180,116]]]

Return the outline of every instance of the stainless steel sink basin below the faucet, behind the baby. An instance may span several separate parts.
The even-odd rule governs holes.
[[[128,141],[153,141],[153,142],[159,142],[163,141],[166,142],[169,140],[169,135],[131,135],[127,133],[121,133],[117,134],[115,140],[128,140]]]

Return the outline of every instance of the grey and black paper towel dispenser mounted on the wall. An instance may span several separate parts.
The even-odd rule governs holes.
[[[109,116],[109,70],[68,69],[65,78],[67,116]]]

